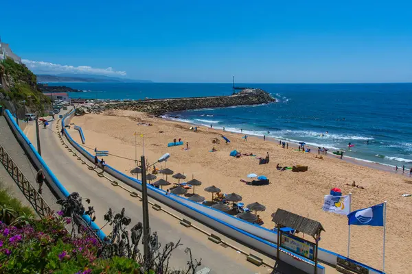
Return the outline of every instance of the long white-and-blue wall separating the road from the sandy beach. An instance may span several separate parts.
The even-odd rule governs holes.
[[[74,110],[63,117],[62,127],[65,127],[65,123],[67,121],[70,121],[73,115]],[[74,141],[73,138],[71,138],[67,131],[65,133],[65,136],[67,136],[67,139],[69,140],[71,145],[73,145],[73,147],[75,147],[80,153],[82,153],[84,157],[86,157],[91,162],[94,162],[94,156],[86,151],[83,147],[78,145],[78,143]],[[139,180],[130,177],[120,171],[117,171],[116,169],[113,169],[113,167],[108,164],[106,164],[105,171],[119,181],[128,184],[128,186],[141,191],[141,182]],[[166,195],[166,192],[164,190],[154,188],[150,185],[148,185],[148,195],[153,199],[160,201],[167,206],[170,206],[170,208],[174,208],[174,210],[183,212],[183,214],[190,216],[192,219],[196,219],[201,223],[204,223],[205,225],[209,225],[209,227],[213,227],[222,234],[230,236],[231,238],[235,238],[260,252],[266,253],[268,256],[276,256],[277,234],[270,229],[242,221],[241,219],[226,214],[225,212],[203,206],[200,203],[195,203],[183,197],[179,197],[173,194]],[[280,260],[293,265],[297,269],[301,269],[306,273],[314,273],[314,266],[312,265],[312,262],[310,260],[297,254],[291,253],[290,251],[286,251],[285,249],[281,250],[283,250],[284,252],[280,253]],[[336,266],[337,258],[345,257],[332,251],[319,248],[319,260],[326,262],[332,266]],[[354,260],[351,261],[356,262]],[[367,268],[369,270],[369,273],[382,273],[382,271],[373,269],[360,262],[356,262],[356,264]],[[317,273],[324,273],[324,271],[324,267],[318,264]]]

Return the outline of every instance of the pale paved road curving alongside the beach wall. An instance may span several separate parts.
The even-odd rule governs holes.
[[[142,210],[139,199],[130,197],[128,192],[121,188],[111,186],[107,179],[98,177],[95,171],[90,171],[87,166],[80,164],[80,161],[61,145],[56,134],[55,123],[52,122],[48,129],[41,129],[42,156],[67,190],[79,192],[82,197],[91,199],[91,204],[98,212],[96,223],[100,227],[104,225],[102,217],[108,208],[112,208],[115,212],[126,208],[126,215],[133,220],[133,223],[141,221]],[[174,214],[181,216],[178,212]],[[202,258],[202,266],[199,269],[208,267],[212,270],[210,273],[271,273],[271,269],[250,264],[244,255],[233,249],[210,242],[205,234],[193,228],[183,227],[179,221],[165,212],[157,212],[150,208],[150,227],[158,232],[161,243],[176,242],[181,239],[183,246],[174,251],[171,260],[171,265],[176,268],[186,265],[188,256],[184,249],[190,247],[194,258]],[[108,227],[104,228],[104,232],[109,232]],[[227,242],[238,245],[230,239],[227,239]],[[242,249],[249,252],[246,247]],[[293,273],[297,272],[293,271]]]

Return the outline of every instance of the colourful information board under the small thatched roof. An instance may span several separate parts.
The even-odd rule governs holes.
[[[302,238],[285,233],[282,233],[280,237],[281,247],[297,253],[300,256],[304,256],[309,260],[314,260],[315,245],[313,242],[308,242],[307,240],[304,240]]]

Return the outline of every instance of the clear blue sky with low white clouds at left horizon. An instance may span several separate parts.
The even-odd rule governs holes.
[[[412,82],[410,1],[24,0],[3,1],[1,10],[3,42],[34,71],[100,69],[155,82]]]

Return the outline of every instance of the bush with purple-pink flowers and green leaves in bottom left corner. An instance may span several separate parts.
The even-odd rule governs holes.
[[[128,258],[96,258],[100,242],[87,234],[71,237],[67,220],[49,217],[23,227],[0,222],[0,273],[138,273],[139,264]]]

